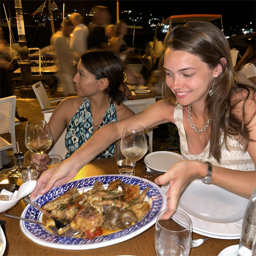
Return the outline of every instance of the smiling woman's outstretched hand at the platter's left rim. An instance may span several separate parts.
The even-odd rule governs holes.
[[[75,170],[74,163],[69,159],[44,171],[36,182],[36,187],[30,195],[30,200],[40,194],[48,192],[52,187],[67,183],[75,177],[78,171],[79,169]]]

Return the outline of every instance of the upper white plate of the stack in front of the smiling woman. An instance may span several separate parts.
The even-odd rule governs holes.
[[[179,200],[179,205],[191,215],[218,223],[242,220],[247,203],[248,199],[242,196],[198,179],[183,190]]]

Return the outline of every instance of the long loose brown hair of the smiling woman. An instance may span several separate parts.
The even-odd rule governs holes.
[[[201,61],[213,70],[218,64],[222,66],[222,73],[216,78],[212,96],[205,99],[206,118],[211,119],[210,152],[218,162],[221,160],[221,147],[223,144],[229,148],[227,137],[243,137],[244,151],[247,150],[251,141],[248,124],[250,120],[246,118],[246,103],[249,95],[255,88],[245,85],[237,85],[234,81],[234,68],[230,56],[230,47],[223,32],[216,26],[204,21],[191,21],[184,25],[174,27],[165,38],[164,49],[159,60],[161,72],[159,84],[162,89],[164,99],[171,105],[176,104],[176,97],[168,86],[166,86],[164,71],[164,53],[171,48],[174,51],[185,51],[198,56]],[[226,64],[222,61],[226,59]],[[247,96],[240,96],[234,100],[237,91],[247,91]],[[242,94],[240,94],[242,95]],[[237,98],[237,97],[236,97]],[[242,103],[242,107],[240,107]],[[255,102],[254,102],[255,103]],[[237,116],[233,109],[241,109],[242,115]],[[255,114],[255,113],[254,113]],[[253,115],[254,116],[254,115]],[[207,120],[205,120],[207,121]],[[221,141],[221,134],[224,140]]]

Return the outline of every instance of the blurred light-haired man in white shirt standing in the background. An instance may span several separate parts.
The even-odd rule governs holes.
[[[69,19],[74,26],[73,36],[70,38],[70,48],[81,54],[88,49],[88,28],[83,24],[83,16],[80,13],[72,13]]]

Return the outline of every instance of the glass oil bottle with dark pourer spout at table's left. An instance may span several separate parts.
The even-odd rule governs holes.
[[[21,186],[23,183],[21,173],[27,170],[27,167],[35,169],[35,165],[25,163],[25,153],[19,152],[19,147],[18,152],[14,154],[14,162],[15,165],[9,169],[7,174],[8,182]]]

